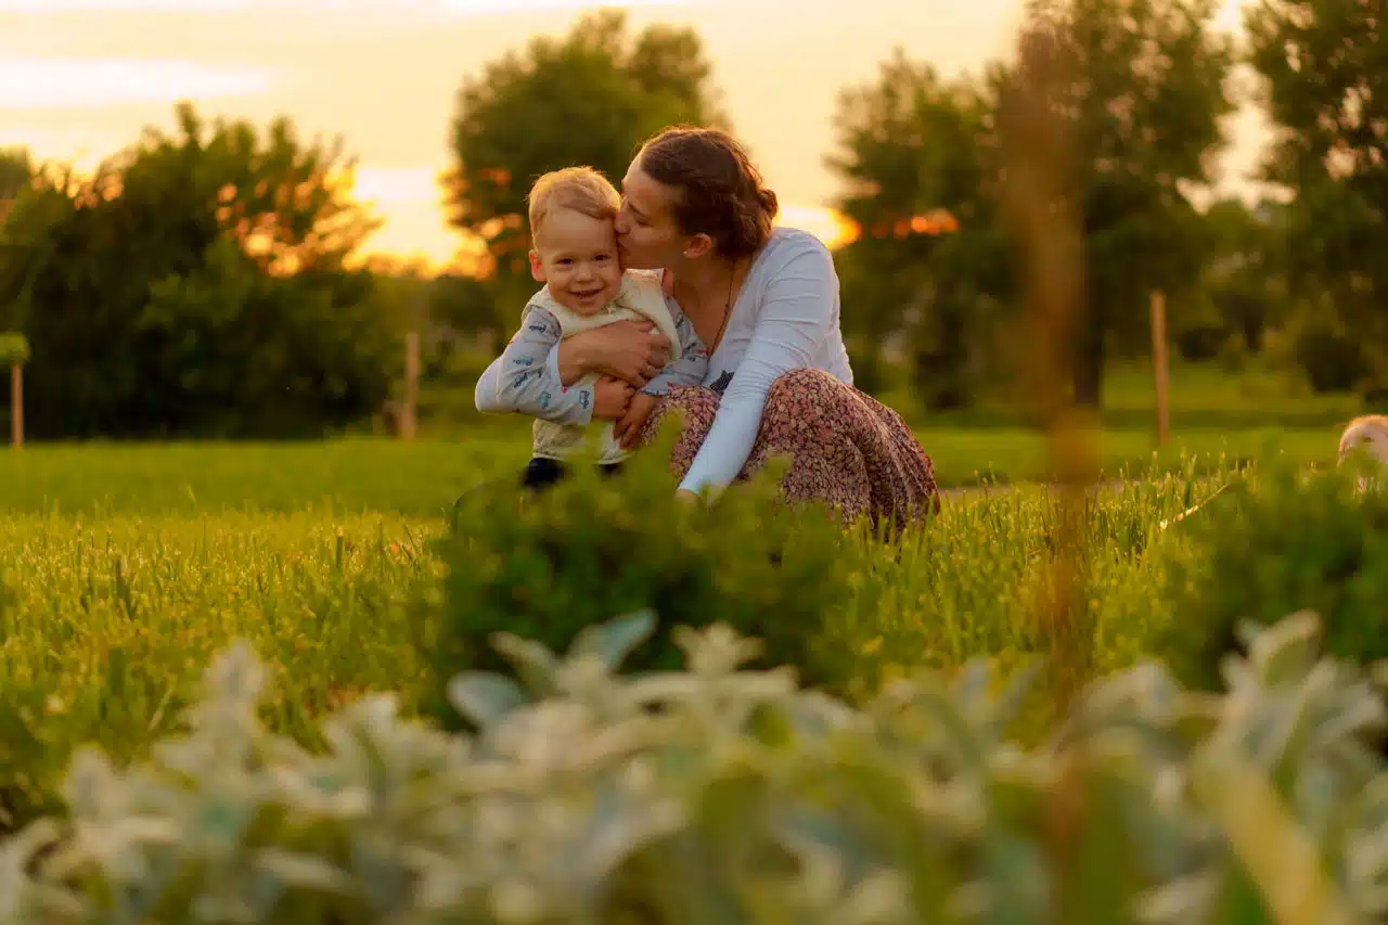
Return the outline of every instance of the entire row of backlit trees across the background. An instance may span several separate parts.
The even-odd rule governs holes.
[[[1388,44],[1373,4],[1262,0],[1244,47],[1216,0],[1035,0],[1006,60],[947,79],[894,53],[837,100],[837,253],[859,385],[905,382],[931,408],[1016,390],[1027,281],[1009,197],[1030,182],[1026,118],[1060,139],[1045,169],[1076,229],[1072,393],[1148,347],[1162,290],[1192,358],[1276,351],[1317,389],[1388,385]],[[1253,206],[1196,208],[1258,75],[1277,128]],[[1024,112],[1024,108],[1029,108]],[[403,339],[428,382],[465,396],[533,282],[525,194],[539,174],[620,176],[679,122],[736,132],[697,32],[633,32],[619,11],[537,38],[461,82],[450,224],[486,253],[428,276],[359,260],[378,225],[340,142],[289,119],[147,129],[92,176],[0,153],[0,332],[29,344],[32,436],[303,436],[379,414]],[[573,125],[584,126],[572,131]],[[490,346],[489,346],[490,344]],[[459,404],[465,401],[459,400]]]

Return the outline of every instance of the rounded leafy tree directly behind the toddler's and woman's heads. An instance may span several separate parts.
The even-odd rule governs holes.
[[[626,15],[583,17],[562,39],[537,38],[464,81],[444,175],[450,224],[489,242],[496,324],[519,321],[533,288],[525,275],[526,193],[541,174],[572,165],[613,183],[648,136],[672,124],[726,125],[712,68],[693,29],[650,26]]]

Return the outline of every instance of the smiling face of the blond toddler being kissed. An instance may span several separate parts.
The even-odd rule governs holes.
[[[622,288],[616,231],[611,221],[559,208],[545,219],[534,244],[530,274],[547,283],[554,300],[569,311],[597,314]]]

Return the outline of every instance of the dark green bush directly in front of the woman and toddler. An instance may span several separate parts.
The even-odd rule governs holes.
[[[715,504],[686,504],[666,471],[669,446],[647,447],[613,479],[576,464],[539,497],[515,488],[518,475],[459,501],[455,529],[434,546],[443,600],[422,617],[439,690],[458,671],[505,669],[487,646],[497,631],[562,650],[586,626],[641,608],[661,628],[634,669],[677,664],[670,626],[722,619],[761,638],[766,664],[795,665],[811,683],[844,678],[851,654],[824,640],[849,597],[861,536],[820,507],[784,504],[776,467]]]

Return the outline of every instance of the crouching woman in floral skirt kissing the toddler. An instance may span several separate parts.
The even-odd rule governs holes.
[[[874,525],[890,518],[897,532],[938,510],[930,458],[899,415],[852,386],[829,249],[773,228],[776,193],[737,142],[666,129],[632,161],[622,194],[623,265],[665,269],[666,292],[709,353],[704,385],[672,389],[638,438],[684,415],[672,457],[682,493],[720,490],[788,454],[788,500],[827,501]],[[598,372],[640,389],[668,349],[648,322],[612,324],[562,340],[548,372],[564,385]],[[477,383],[482,411],[497,410],[497,372],[493,364]]]

